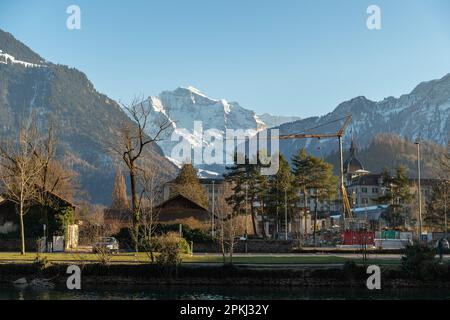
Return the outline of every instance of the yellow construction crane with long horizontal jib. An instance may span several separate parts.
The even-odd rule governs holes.
[[[345,116],[341,119],[337,119],[333,122],[345,120],[343,126],[339,129],[336,133],[325,133],[325,134],[318,134],[318,133],[294,133],[294,134],[288,134],[288,135],[280,135],[280,140],[291,140],[291,139],[332,139],[337,138],[339,141],[339,157],[340,157],[340,191],[341,191],[341,197],[342,197],[342,222],[344,228],[346,228],[346,219],[348,218],[350,221],[353,219],[352,215],[352,209],[350,207],[350,201],[348,199],[347,191],[345,190],[345,184],[344,184],[344,154],[343,154],[343,147],[342,147],[342,138],[345,133],[345,129],[350,124],[350,121],[352,120],[352,116]]]

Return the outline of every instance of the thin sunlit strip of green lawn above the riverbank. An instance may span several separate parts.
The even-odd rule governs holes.
[[[41,256],[47,257],[52,262],[97,262],[99,256],[90,253],[46,253]],[[27,253],[25,256],[19,253],[0,253],[0,263],[10,262],[32,262],[36,258],[35,253]],[[273,265],[301,265],[301,264],[342,264],[351,257],[342,257],[334,255],[321,256],[235,256],[233,262],[236,264],[273,264]],[[353,258],[355,262],[362,263],[361,258]],[[145,263],[148,262],[148,256],[145,253],[121,253],[111,256],[113,263]],[[221,263],[222,257],[218,255],[185,255],[183,263]],[[399,264],[400,259],[369,259],[371,264],[393,265]]]

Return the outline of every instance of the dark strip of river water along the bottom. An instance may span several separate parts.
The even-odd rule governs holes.
[[[96,286],[80,291],[0,287],[0,300],[415,300],[450,299],[450,289],[261,288],[188,286]]]

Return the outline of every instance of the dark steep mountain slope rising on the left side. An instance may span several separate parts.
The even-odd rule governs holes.
[[[92,202],[109,205],[115,164],[107,146],[116,130],[131,120],[115,101],[97,92],[85,74],[45,61],[2,30],[0,50],[0,137],[17,134],[22,120],[33,112],[43,127],[52,119],[58,127],[59,156],[69,159]],[[158,164],[161,178],[176,173],[156,144],[148,156]]]

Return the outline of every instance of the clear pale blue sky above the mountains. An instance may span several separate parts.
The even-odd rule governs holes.
[[[81,30],[66,28],[71,4]],[[450,73],[448,0],[0,0],[0,28],[123,102],[191,85],[306,117]]]

